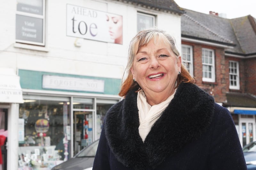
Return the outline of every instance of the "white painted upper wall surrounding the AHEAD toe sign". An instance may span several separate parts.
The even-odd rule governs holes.
[[[77,38],[66,36],[67,4],[122,15],[123,45],[80,39],[82,46],[75,47]],[[15,43],[16,0],[4,0],[0,7],[1,23],[4,23],[0,27],[0,67],[122,78],[129,42],[137,33],[137,11],[157,15],[156,26],[169,31],[180,49],[180,16],[109,0],[46,1],[45,48]]]

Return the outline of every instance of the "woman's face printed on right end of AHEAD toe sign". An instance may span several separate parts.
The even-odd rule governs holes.
[[[106,14],[108,33],[117,44],[123,43],[123,17],[115,14]]]

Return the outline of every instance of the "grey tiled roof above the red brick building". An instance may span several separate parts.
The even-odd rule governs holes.
[[[256,53],[256,19],[248,15],[241,18],[221,18],[185,9],[181,17],[181,34],[208,41],[234,43],[225,51],[246,55]]]

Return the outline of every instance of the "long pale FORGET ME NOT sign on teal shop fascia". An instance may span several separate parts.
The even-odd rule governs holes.
[[[104,92],[104,80],[43,75],[43,88]]]

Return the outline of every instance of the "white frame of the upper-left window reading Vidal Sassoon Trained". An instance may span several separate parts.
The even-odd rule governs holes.
[[[45,46],[45,1],[46,0],[42,0],[42,1],[43,1],[43,11],[42,11],[43,13],[42,13],[42,15],[28,13],[28,12],[22,12],[22,11],[17,11],[17,9],[16,9],[16,15],[22,15],[22,16],[27,16],[27,17],[32,17],[32,18],[43,19],[43,28],[42,28],[42,30],[43,30],[43,42],[39,43],[39,42],[33,42],[33,41],[17,40],[16,37],[15,37],[15,41],[16,42],[32,44],[32,45]],[[15,25],[15,27],[16,27],[16,25]]]

